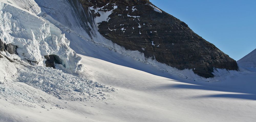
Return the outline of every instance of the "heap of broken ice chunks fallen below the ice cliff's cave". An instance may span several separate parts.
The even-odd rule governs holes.
[[[62,70],[40,66],[26,66],[24,69],[18,69],[19,75],[17,79],[36,89],[52,94],[59,99],[65,100],[81,100],[75,97],[75,94],[83,94],[82,100],[90,97],[104,96],[102,92],[112,92],[114,88],[93,82],[88,79],[73,76],[64,73]],[[103,97],[105,99],[105,97]]]

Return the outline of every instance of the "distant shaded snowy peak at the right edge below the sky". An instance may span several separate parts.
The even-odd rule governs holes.
[[[256,68],[256,49],[237,61],[240,66]]]

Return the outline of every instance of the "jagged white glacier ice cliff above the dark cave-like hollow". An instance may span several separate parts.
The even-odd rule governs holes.
[[[0,39],[3,43],[18,46],[21,59],[44,66],[46,55],[57,55],[69,71],[82,70],[81,57],[69,47],[59,28],[37,15],[11,3],[0,1]]]

